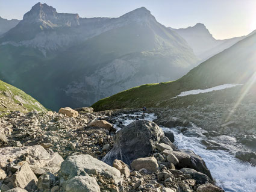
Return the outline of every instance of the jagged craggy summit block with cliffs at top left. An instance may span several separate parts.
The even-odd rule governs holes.
[[[79,25],[78,14],[57,13],[56,9],[40,2],[24,14],[23,22],[38,23],[43,27],[76,26]]]

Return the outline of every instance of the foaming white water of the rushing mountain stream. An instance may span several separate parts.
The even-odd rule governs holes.
[[[132,118],[133,117],[133,118]],[[136,117],[142,119],[142,113],[134,114],[122,114],[118,116],[117,120],[122,120],[123,125],[128,125],[133,122]],[[145,120],[154,120],[156,117],[154,114],[145,114]],[[116,125],[116,129],[120,129]],[[211,175],[216,179],[217,185],[223,188],[226,192],[254,192],[256,191],[256,167],[252,167],[249,163],[243,163],[237,159],[234,153],[229,153],[224,150],[207,150],[206,147],[201,144],[201,140],[205,136],[202,132],[205,132],[201,128],[195,125],[189,128],[190,131],[195,132],[199,136],[184,135],[178,128],[162,128],[164,132],[172,131],[175,136],[175,144],[179,149],[191,149],[197,155],[200,155]],[[214,138],[217,143],[222,144],[228,149],[236,150],[236,138],[228,136],[220,136]]]

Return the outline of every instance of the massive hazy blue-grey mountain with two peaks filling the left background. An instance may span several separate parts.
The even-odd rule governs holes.
[[[1,78],[52,110],[180,78],[198,61],[186,40],[144,7],[118,18],[81,18],[39,3],[0,47]]]

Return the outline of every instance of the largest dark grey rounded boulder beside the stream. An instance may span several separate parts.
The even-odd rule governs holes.
[[[136,120],[117,132],[113,149],[102,160],[111,165],[120,159],[130,165],[134,159],[148,156],[163,137],[163,130],[154,122]]]

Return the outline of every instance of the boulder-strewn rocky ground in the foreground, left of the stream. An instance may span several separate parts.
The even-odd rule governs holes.
[[[0,148],[2,191],[223,191],[204,160],[176,149],[173,138],[154,122],[131,116],[135,121],[122,126],[123,113],[136,110],[67,111],[72,109],[66,108],[66,115],[15,112],[1,117],[7,138]],[[111,123],[121,125],[121,131],[115,134]],[[117,159],[109,161],[114,154]]]

